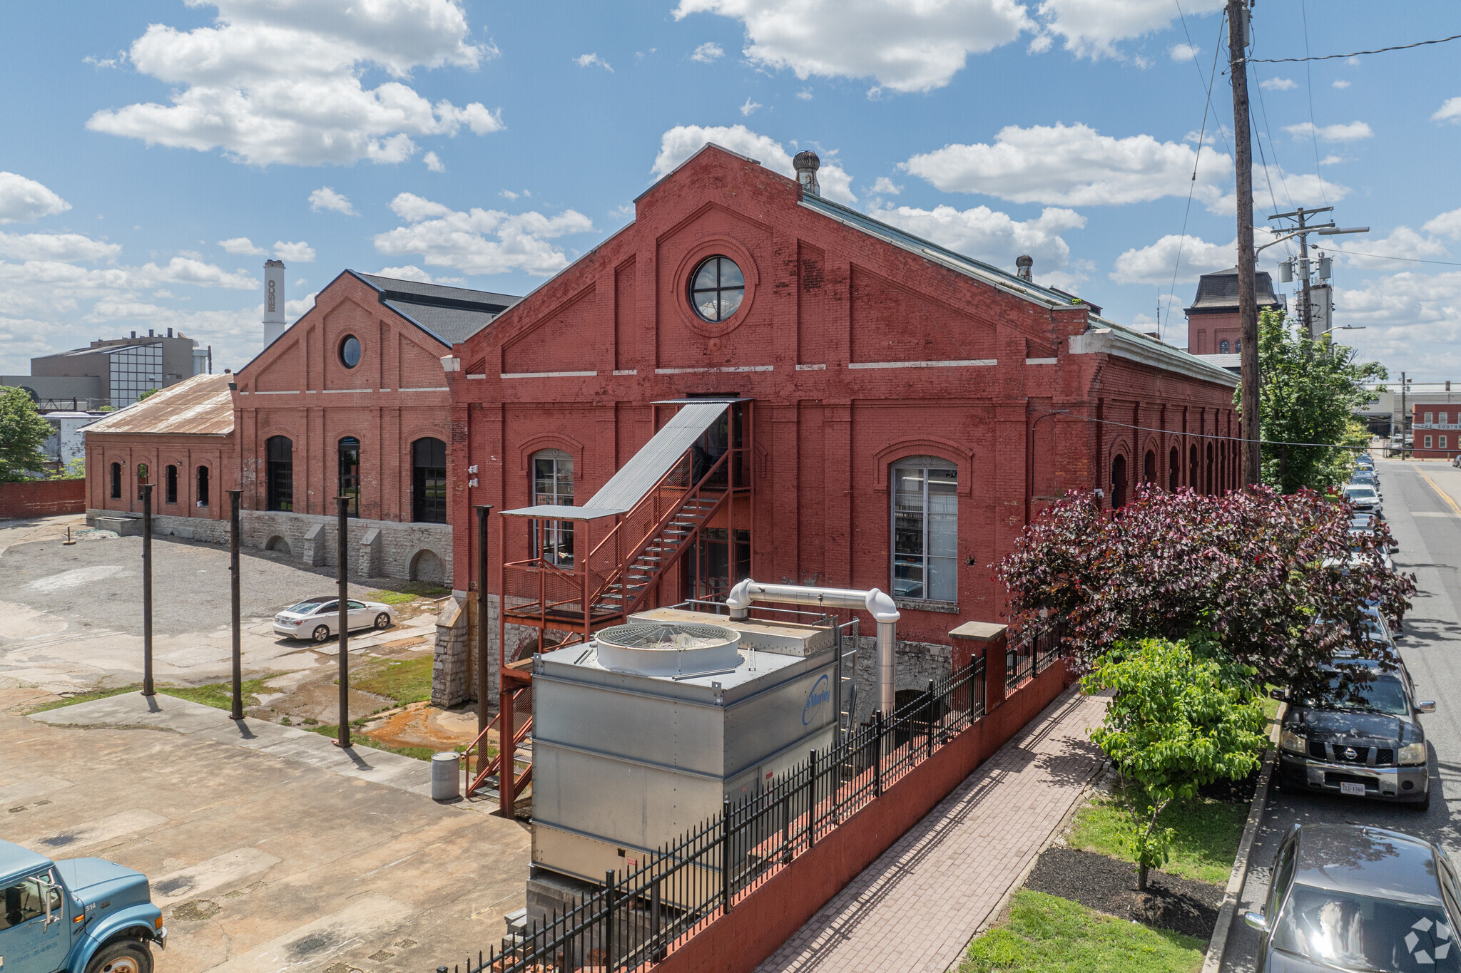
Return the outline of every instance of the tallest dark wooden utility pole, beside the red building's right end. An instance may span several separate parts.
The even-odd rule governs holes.
[[[1248,123],[1248,6],[1227,0],[1227,66],[1233,80],[1233,155],[1237,165],[1237,322],[1243,328],[1240,433],[1243,486],[1261,480],[1258,445],[1258,296],[1254,292],[1254,146]]]

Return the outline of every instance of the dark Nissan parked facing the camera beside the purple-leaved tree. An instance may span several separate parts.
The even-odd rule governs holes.
[[[1388,627],[1376,616],[1391,646]],[[1372,632],[1376,632],[1372,627]],[[1327,689],[1313,696],[1274,690],[1289,703],[1278,737],[1278,779],[1294,791],[1328,791],[1430,807],[1426,732],[1416,719],[1432,713],[1398,656],[1386,670],[1376,659],[1340,658],[1324,670]],[[1343,675],[1357,677],[1349,687]]]

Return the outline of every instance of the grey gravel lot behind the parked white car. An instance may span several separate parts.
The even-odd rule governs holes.
[[[269,617],[301,598],[333,594],[333,569],[281,553],[243,551],[244,619]],[[183,635],[228,624],[228,548],[175,537],[152,540],[153,632]],[[361,597],[387,581],[351,585]],[[95,537],[13,544],[0,557],[0,601],[79,624],[142,633],[142,538]]]

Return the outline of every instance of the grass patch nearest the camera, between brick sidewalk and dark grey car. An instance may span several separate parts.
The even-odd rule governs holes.
[[[1021,890],[1010,918],[977,937],[958,973],[1192,973],[1205,942]]]

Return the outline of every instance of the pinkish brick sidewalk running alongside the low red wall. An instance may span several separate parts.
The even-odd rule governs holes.
[[[944,973],[1100,767],[1102,697],[1071,691],[863,869],[757,973]]]

